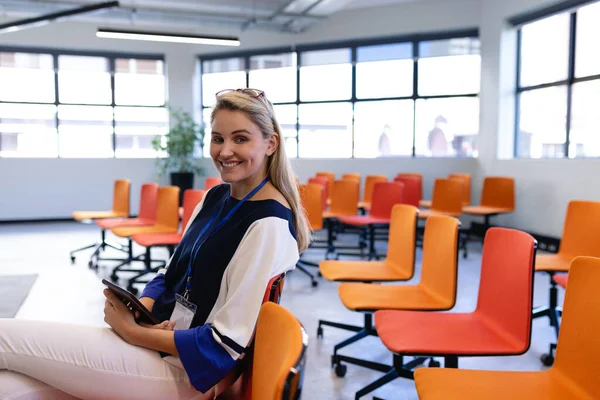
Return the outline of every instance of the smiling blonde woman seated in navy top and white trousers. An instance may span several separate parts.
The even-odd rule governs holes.
[[[210,154],[229,185],[206,194],[142,293],[165,322],[137,324],[108,290],[112,330],[0,320],[0,397],[9,387],[26,394],[11,399],[214,396],[252,339],[268,281],[294,268],[310,232],[264,93],[217,93],[211,123]]]

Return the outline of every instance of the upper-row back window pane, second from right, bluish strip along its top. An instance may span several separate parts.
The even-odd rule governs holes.
[[[413,93],[412,44],[386,44],[357,49],[356,97],[405,97]]]

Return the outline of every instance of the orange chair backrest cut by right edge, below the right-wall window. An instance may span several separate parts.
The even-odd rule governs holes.
[[[559,254],[600,257],[600,202],[569,202]]]

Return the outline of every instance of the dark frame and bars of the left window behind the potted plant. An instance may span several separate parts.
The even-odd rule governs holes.
[[[30,53],[30,54],[48,54],[50,56],[52,56],[52,63],[53,63],[53,70],[54,70],[54,102],[48,102],[48,103],[40,103],[40,102],[28,102],[28,101],[1,101],[0,100],[0,104],[45,104],[45,105],[54,105],[56,107],[56,114],[54,117],[55,120],[55,126],[56,126],[56,135],[57,135],[57,155],[56,157],[50,157],[50,158],[73,158],[73,157],[61,157],[60,156],[60,135],[59,135],[59,126],[60,126],[60,120],[58,118],[58,106],[61,105],[66,105],[66,106],[91,106],[91,107],[95,107],[95,106],[100,106],[100,107],[106,107],[109,106],[113,109],[113,118],[112,118],[112,152],[113,155],[112,157],[101,157],[101,158],[122,158],[122,159],[128,159],[130,157],[117,157],[117,135],[116,135],[116,120],[115,120],[115,116],[114,116],[114,109],[115,107],[123,107],[124,105],[119,105],[115,103],[115,73],[116,73],[116,68],[115,68],[115,62],[117,59],[120,58],[133,58],[133,59],[137,59],[137,60],[150,60],[150,61],[162,61],[163,65],[164,65],[164,74],[165,74],[165,78],[168,77],[167,75],[167,65],[165,62],[165,56],[164,54],[151,54],[151,53],[125,53],[125,52],[107,52],[107,51],[79,51],[79,50],[70,50],[70,49],[59,49],[59,48],[45,48],[45,47],[20,47],[20,46],[0,46],[0,52],[1,53]],[[111,89],[111,102],[110,104],[80,104],[80,103],[64,103],[64,102],[60,102],[59,100],[59,83],[58,83],[58,73],[59,73],[59,68],[58,68],[58,57],[59,56],[89,56],[89,57],[104,57],[108,60],[108,67],[109,67],[109,73],[110,73],[110,89]],[[165,100],[166,96],[167,96],[167,79],[165,79]],[[159,106],[147,106],[147,105],[127,105],[127,107],[142,107],[142,108],[165,108],[166,107],[166,102],[165,104],[159,105]],[[0,146],[1,146],[1,141],[0,141]],[[13,158],[13,157],[7,157],[7,156],[2,156],[1,155],[1,150],[2,148],[0,147],[0,158]],[[31,158],[31,157],[24,157],[24,158]],[[36,157],[37,158],[37,157]],[[48,158],[48,157],[44,157],[44,158]],[[88,158],[88,157],[81,157],[81,158]],[[137,157],[139,158],[139,157]],[[154,157],[152,157],[154,158]]]

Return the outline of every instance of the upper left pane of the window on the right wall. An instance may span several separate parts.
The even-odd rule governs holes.
[[[567,79],[569,25],[566,13],[521,28],[521,86]]]

